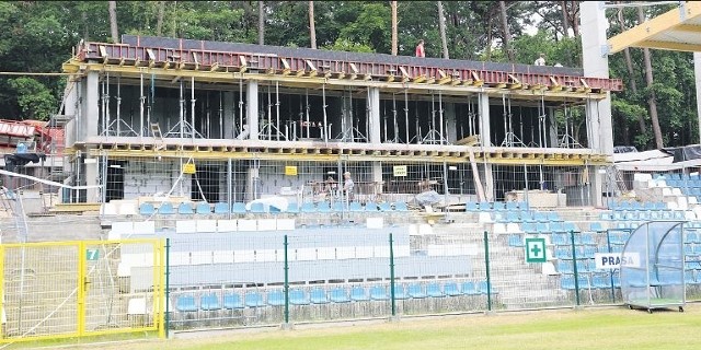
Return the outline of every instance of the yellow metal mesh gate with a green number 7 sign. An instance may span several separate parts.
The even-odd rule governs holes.
[[[0,244],[0,342],[164,336],[161,240]]]

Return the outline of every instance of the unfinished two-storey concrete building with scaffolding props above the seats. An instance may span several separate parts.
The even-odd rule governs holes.
[[[530,189],[600,205],[610,137],[593,106],[622,88],[573,68],[141,36],[81,42],[64,70],[69,182],[104,185],[70,202],[301,206],[350,172],[361,202],[406,201],[427,180],[449,202]],[[197,182],[172,188],[183,170]]]

